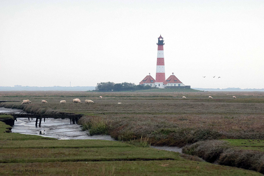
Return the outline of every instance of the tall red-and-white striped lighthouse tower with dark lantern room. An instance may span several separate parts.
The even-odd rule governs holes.
[[[157,68],[156,68],[156,81],[155,87],[163,87],[163,82],[165,82],[165,65],[164,65],[164,52],[163,52],[163,45],[164,45],[163,37],[160,35],[158,38],[158,56],[157,56]]]

